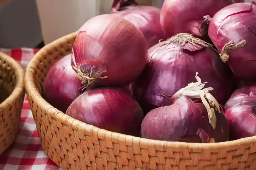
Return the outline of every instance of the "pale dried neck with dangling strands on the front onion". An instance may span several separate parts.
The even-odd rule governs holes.
[[[210,90],[213,90],[212,87],[204,88],[205,83],[202,83],[198,73],[196,73],[197,82],[189,83],[187,87],[180,89],[171,97],[171,102],[174,102],[180,96],[185,95],[190,98],[201,99],[204,104],[209,117],[209,123],[213,127],[216,128],[216,115],[215,111],[221,113],[220,105],[213,95],[209,93]]]

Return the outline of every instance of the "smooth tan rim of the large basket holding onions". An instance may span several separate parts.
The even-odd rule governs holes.
[[[235,147],[237,145],[242,145],[245,143],[249,143],[252,140],[256,141],[256,136],[254,137],[248,137],[248,138],[242,138],[238,140],[233,141],[225,141],[220,143],[185,143],[185,142],[172,142],[172,141],[160,141],[160,140],[152,140],[152,139],[145,139],[140,137],[133,137],[128,136],[125,134],[120,134],[116,132],[110,132],[107,130],[100,129],[98,127],[88,125],[84,122],[81,122],[79,120],[76,120],[69,115],[66,115],[65,113],[59,111],[57,108],[54,108],[51,106],[45,99],[42,98],[40,93],[36,90],[36,86],[33,80],[33,74],[34,74],[34,68],[37,68],[37,65],[40,64],[39,59],[42,58],[42,56],[45,54],[47,55],[46,51],[53,49],[53,47],[59,46],[62,42],[64,42],[66,39],[71,39],[72,37],[76,36],[77,32],[70,33],[64,37],[61,37],[52,43],[44,46],[39,52],[37,52],[34,56],[34,58],[29,62],[26,72],[25,72],[25,89],[27,91],[27,95],[33,98],[34,102],[37,102],[37,105],[40,107],[40,109],[44,109],[50,116],[56,120],[59,120],[63,123],[70,124],[73,129],[76,130],[83,130],[88,131],[89,133],[98,134],[99,139],[104,139],[105,134],[109,133],[112,141],[118,140],[119,142],[132,142],[132,143],[140,143],[140,145],[156,145],[156,146],[170,146],[172,148],[181,148],[186,147],[190,149],[220,149],[221,147]]]

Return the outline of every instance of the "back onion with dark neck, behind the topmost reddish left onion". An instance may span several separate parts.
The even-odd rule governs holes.
[[[143,33],[150,48],[160,39],[166,39],[160,25],[160,12],[156,7],[138,5],[135,0],[114,0],[111,14],[135,25]]]

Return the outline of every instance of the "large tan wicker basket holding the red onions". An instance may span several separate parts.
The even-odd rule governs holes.
[[[76,35],[46,45],[25,73],[43,150],[58,166],[65,170],[256,170],[256,137],[212,144],[148,140],[87,125],[52,107],[41,96],[43,81],[51,66],[71,52]]]

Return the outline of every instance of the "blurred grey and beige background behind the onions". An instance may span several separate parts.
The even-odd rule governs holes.
[[[4,0],[7,1],[7,0]],[[161,7],[164,0],[136,0]],[[0,47],[35,48],[78,30],[89,18],[108,14],[113,0],[8,0],[0,5]]]

